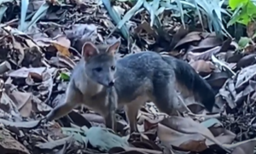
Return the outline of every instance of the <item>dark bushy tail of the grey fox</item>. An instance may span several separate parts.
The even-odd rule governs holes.
[[[197,97],[208,111],[212,111],[212,107],[215,104],[215,95],[207,81],[200,77],[193,67],[189,66],[185,61],[171,56],[162,57],[166,63],[173,67],[177,82],[183,84],[192,94],[195,94],[195,98]]]

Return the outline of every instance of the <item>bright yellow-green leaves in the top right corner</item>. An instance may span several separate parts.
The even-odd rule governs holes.
[[[229,0],[229,6],[234,13],[227,26],[236,22],[247,26],[255,18],[256,5],[252,0]]]

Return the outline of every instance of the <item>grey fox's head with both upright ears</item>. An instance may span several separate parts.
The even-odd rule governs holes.
[[[96,48],[91,42],[86,42],[82,48],[85,61],[85,73],[96,83],[104,87],[112,87],[114,84],[113,74],[115,72],[115,53],[119,50],[120,40],[105,49]]]

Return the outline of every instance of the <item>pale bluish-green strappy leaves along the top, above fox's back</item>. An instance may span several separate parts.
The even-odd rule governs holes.
[[[119,2],[126,2],[131,0],[119,0]],[[131,20],[131,17],[135,14],[146,9],[150,14],[150,26],[156,26],[160,28],[161,23],[159,20],[159,15],[162,14],[165,10],[172,9],[176,14],[178,13],[183,26],[185,25],[184,16],[186,14],[186,9],[195,11],[200,18],[201,24],[202,16],[207,16],[207,23],[210,31],[216,31],[218,34],[222,32],[224,35],[230,36],[226,31],[223,25],[222,14],[229,13],[222,9],[225,0],[133,0],[135,2],[134,6],[127,11],[122,19],[116,19],[116,15],[113,14],[113,9],[106,5],[109,0],[102,0],[105,4],[105,7],[108,9],[108,13],[116,22],[116,28],[122,29],[125,26],[125,23]],[[122,30],[121,30],[122,31]],[[122,31],[125,33],[125,31]],[[123,34],[124,35],[124,34]]]

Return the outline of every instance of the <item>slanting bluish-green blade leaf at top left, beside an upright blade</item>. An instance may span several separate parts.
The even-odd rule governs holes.
[[[44,15],[47,13],[47,10],[49,9],[49,3],[44,2],[41,7],[38,9],[37,13],[33,15],[32,20],[28,23],[28,25],[26,26],[26,29],[29,29],[30,26],[33,26],[34,24],[36,24],[38,22],[38,20],[40,20],[42,17],[44,17]]]

